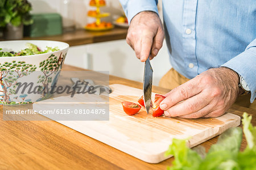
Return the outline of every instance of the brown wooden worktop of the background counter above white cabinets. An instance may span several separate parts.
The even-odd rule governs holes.
[[[110,31],[91,32],[85,29],[77,29],[74,32],[47,37],[24,37],[23,40],[53,40],[67,42],[70,46],[121,40],[126,38],[127,28],[115,27]],[[2,40],[2,39],[0,39]]]

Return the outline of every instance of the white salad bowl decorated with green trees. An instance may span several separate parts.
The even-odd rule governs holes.
[[[0,41],[0,48],[3,52],[19,52],[27,48],[27,42],[42,50],[46,46],[57,46],[60,50],[31,56],[0,57],[0,104],[24,104],[47,99],[49,95],[43,89],[50,89],[59,78],[69,45],[59,41],[15,40]],[[34,90],[28,86],[30,83]],[[20,86],[22,84],[24,86]]]

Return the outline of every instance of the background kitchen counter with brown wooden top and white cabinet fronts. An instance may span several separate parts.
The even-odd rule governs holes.
[[[24,40],[67,42],[71,47],[65,64],[94,71],[109,71],[110,75],[142,82],[144,63],[137,59],[134,50],[127,44],[126,34],[127,28],[120,27],[102,32],[77,29],[57,36],[24,37]],[[154,69],[153,84],[157,86],[160,78],[171,69],[165,42],[151,65]]]

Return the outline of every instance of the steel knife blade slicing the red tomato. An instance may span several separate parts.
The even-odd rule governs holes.
[[[150,65],[150,57],[148,56],[144,66],[144,78],[143,78],[143,99],[148,114],[151,105],[151,93],[152,93],[152,76],[153,69]]]

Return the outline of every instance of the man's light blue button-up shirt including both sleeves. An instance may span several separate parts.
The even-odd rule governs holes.
[[[120,0],[130,20],[141,11],[158,13],[157,0]],[[191,79],[210,67],[225,66],[256,90],[255,0],[163,0],[171,65]]]

